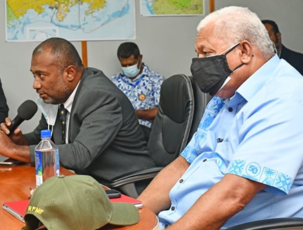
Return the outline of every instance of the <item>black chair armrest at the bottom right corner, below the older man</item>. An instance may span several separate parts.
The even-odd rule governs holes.
[[[300,228],[298,228],[300,227]],[[303,218],[274,218],[236,225],[226,230],[303,229]]]

